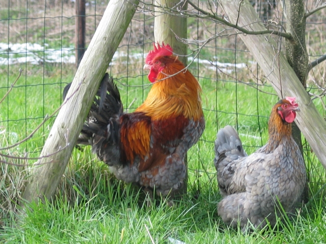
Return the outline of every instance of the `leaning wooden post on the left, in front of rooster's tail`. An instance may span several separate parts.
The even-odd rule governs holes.
[[[95,93],[137,6],[137,0],[111,0],[108,3],[73,79],[66,104],[45,142],[41,159],[35,163],[31,181],[23,193],[25,201],[50,199],[55,193]],[[42,158],[47,155],[51,156]]]

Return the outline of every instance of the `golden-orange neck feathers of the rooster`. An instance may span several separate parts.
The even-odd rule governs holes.
[[[157,76],[145,102],[136,111],[156,119],[183,115],[187,119],[202,116],[202,89],[196,78],[175,56],[160,57],[166,67]]]

